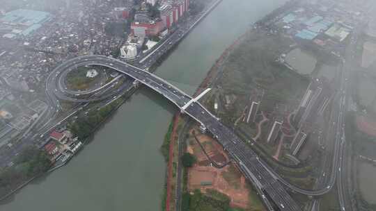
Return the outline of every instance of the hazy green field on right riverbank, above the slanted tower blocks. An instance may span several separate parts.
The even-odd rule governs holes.
[[[290,104],[301,99],[309,79],[276,62],[291,44],[293,41],[288,37],[253,31],[230,53],[223,75],[217,81],[218,87],[214,87],[219,96],[236,96],[234,106],[220,115],[225,124],[232,125],[242,115],[251,90],[265,90],[260,105],[263,111],[273,110],[276,104]],[[209,104],[213,103],[213,96],[208,100]]]

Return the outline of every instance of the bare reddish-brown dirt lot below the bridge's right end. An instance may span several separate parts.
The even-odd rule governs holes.
[[[196,131],[196,134],[199,134],[197,135],[198,140],[212,160],[218,164],[224,164],[228,161],[224,149],[215,140],[207,135],[200,134],[198,131]],[[193,153],[198,160],[194,167],[189,169],[189,190],[201,189],[201,192],[205,192],[205,189],[215,189],[229,196],[230,205],[234,208],[249,209],[252,207],[251,201],[258,201],[258,199],[250,200],[249,185],[234,164],[228,164],[222,169],[211,167],[194,137],[189,139],[187,151]]]

